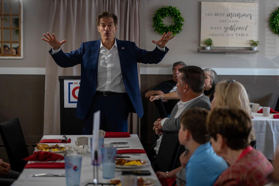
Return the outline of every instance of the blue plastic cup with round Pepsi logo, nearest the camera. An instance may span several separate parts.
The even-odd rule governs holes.
[[[79,186],[81,180],[81,156],[65,157],[66,185]]]

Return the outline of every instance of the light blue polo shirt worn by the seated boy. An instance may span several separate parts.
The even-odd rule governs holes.
[[[199,146],[186,165],[187,186],[212,186],[218,176],[228,168],[226,161],[218,156],[210,142]]]

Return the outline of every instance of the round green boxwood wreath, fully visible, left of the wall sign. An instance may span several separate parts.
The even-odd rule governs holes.
[[[172,17],[172,21],[175,23],[175,25],[165,26],[163,24],[162,19],[167,16]],[[156,13],[153,17],[153,26],[155,27],[155,32],[158,32],[160,34],[171,31],[173,35],[176,35],[182,31],[181,27],[183,26],[183,21],[184,19],[183,17],[181,17],[181,13],[179,12],[179,10],[176,9],[176,7],[163,6],[163,8],[159,8],[158,10],[156,10]]]

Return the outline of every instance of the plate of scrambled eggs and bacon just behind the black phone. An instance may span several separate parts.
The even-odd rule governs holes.
[[[140,167],[148,164],[149,161],[147,160],[134,158],[118,158],[115,160],[115,167],[119,169],[134,169],[135,167]]]

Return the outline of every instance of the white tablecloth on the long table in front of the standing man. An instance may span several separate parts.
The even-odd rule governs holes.
[[[67,143],[65,145],[70,145],[72,147],[76,146],[75,141],[77,137],[80,137],[81,135],[69,135],[69,138],[71,138],[71,143]],[[92,137],[87,135],[87,137]],[[43,136],[42,139],[50,139],[50,138],[61,138],[61,136]],[[129,146],[130,149],[143,149],[143,146],[137,136],[137,134],[131,134],[131,137],[129,138],[105,138],[104,143],[108,144],[110,142],[128,142],[127,145],[119,145],[119,146]],[[53,145],[53,144],[52,144]],[[88,145],[90,146],[90,139]],[[118,148],[117,150],[121,149],[128,149],[128,148]],[[71,150],[72,155],[76,155],[74,152],[74,149]],[[88,150],[90,152],[90,148]],[[63,153],[61,153],[63,155]],[[148,157],[146,154],[138,155],[130,155],[127,154],[125,156],[130,156],[131,158],[136,159],[142,159],[142,160],[148,160]],[[63,160],[64,161],[64,160]],[[102,170],[100,170],[100,166],[98,169],[99,173],[99,183],[109,183],[110,179],[104,179]],[[121,169],[116,168],[115,177],[121,176]],[[143,176],[152,178],[156,180],[156,185],[161,185],[155,172],[153,171],[151,165],[144,165],[142,167],[139,167],[137,169],[125,169],[125,170],[149,170],[151,172],[150,176]],[[19,178],[12,184],[15,185],[29,185],[29,186],[37,186],[37,185],[46,185],[46,186],[53,186],[53,185],[59,185],[64,186],[66,185],[66,178],[65,177],[31,177],[33,174],[40,174],[40,173],[53,173],[53,174],[63,174],[65,173],[65,169],[24,169],[22,171],[22,174],[19,176]],[[87,153],[87,155],[82,157],[82,165],[81,165],[81,186],[86,185],[88,182],[92,182],[93,179],[93,166],[91,165],[91,154]]]

